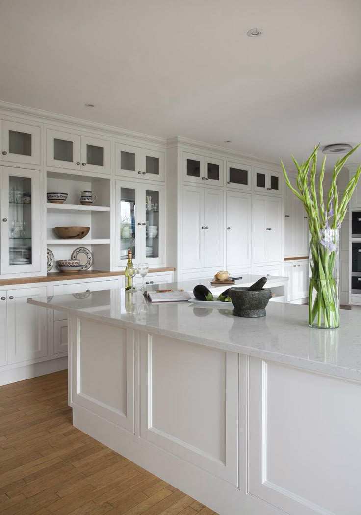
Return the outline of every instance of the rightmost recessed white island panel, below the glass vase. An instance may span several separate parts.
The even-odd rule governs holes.
[[[360,385],[255,358],[249,370],[249,492],[292,515],[358,515]]]

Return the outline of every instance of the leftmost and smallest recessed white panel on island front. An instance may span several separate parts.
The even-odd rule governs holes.
[[[134,432],[134,331],[74,317],[71,399]]]

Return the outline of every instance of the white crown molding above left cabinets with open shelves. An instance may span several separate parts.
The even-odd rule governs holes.
[[[21,106],[20,104],[12,104],[11,102],[6,102],[5,100],[0,100],[0,109],[6,110],[7,112],[9,112],[9,114],[11,114],[12,112],[16,114],[26,114],[28,116],[42,118],[43,123],[60,122],[66,125],[81,126],[82,128],[98,130],[106,134],[112,135],[113,137],[123,136],[125,138],[148,141],[149,143],[155,143],[157,145],[163,146],[167,143],[166,139],[160,138],[159,136],[143,134],[141,132],[123,129],[121,127],[114,127],[112,125],[100,124],[98,122],[90,122],[82,118],[75,118],[74,116],[65,116],[63,114],[52,113],[50,111],[43,111],[41,109],[36,109],[33,107]]]

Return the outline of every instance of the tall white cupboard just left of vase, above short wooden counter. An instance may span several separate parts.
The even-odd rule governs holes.
[[[295,179],[290,179],[295,187]],[[309,226],[302,202],[286,186],[284,195],[284,256],[300,258],[309,254]]]

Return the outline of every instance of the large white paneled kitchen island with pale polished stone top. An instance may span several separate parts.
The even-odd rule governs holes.
[[[80,430],[221,515],[361,512],[360,310],[322,331],[279,302],[258,319],[123,289],[28,302],[68,314]]]

